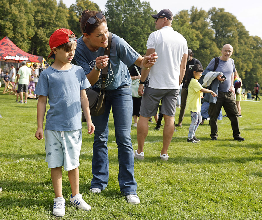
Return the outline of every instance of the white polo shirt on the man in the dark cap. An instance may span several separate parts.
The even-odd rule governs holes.
[[[157,62],[149,72],[149,87],[158,89],[179,89],[180,64],[188,53],[186,39],[169,26],[150,34],[147,49],[155,49]]]

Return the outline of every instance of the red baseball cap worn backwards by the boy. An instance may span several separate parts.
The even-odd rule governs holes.
[[[73,38],[68,37],[71,34],[74,35]],[[52,33],[51,37],[49,38],[49,47],[51,48],[51,53],[49,54],[47,59],[49,59],[54,54],[52,51],[52,48],[58,47],[67,42],[76,41],[76,40],[77,38],[75,37],[75,34],[73,33],[73,31],[70,31],[69,29],[61,28],[61,29],[55,30],[55,32]],[[54,59],[53,57],[51,58]]]

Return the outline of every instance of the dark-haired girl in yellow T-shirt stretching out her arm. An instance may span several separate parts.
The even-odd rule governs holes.
[[[203,88],[198,82],[198,79],[202,76],[203,68],[196,64],[193,67],[187,70],[187,82],[188,85],[188,95],[187,95],[187,107],[186,109],[191,113],[191,124],[189,126],[187,142],[196,143],[200,141],[196,138],[195,134],[198,128],[199,123],[202,121],[201,116],[201,98],[202,92],[211,93],[213,97],[217,96],[212,90]]]

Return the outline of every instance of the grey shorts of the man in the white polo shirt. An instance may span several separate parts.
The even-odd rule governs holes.
[[[157,114],[160,100],[162,107],[160,113],[167,116],[175,116],[176,102],[179,89],[154,89],[146,87],[142,96],[139,114],[144,117],[151,117]]]

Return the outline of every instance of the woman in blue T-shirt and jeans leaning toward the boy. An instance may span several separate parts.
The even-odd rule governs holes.
[[[92,117],[95,136],[92,160],[93,179],[90,191],[100,193],[108,183],[108,118],[112,108],[118,146],[120,191],[127,197],[129,203],[138,204],[140,200],[136,193],[137,182],[134,179],[134,156],[130,136],[131,77],[127,66],[134,63],[143,69],[150,68],[156,62],[157,54],[153,53],[143,58],[127,42],[113,34],[109,61],[108,56],[103,55],[109,32],[102,12],[84,10],[79,22],[83,36],[77,40],[75,60],[84,68],[92,88],[101,86],[99,76],[102,71],[100,70],[109,65],[105,82],[105,112],[101,116]]]

